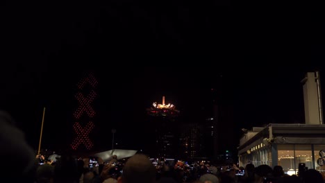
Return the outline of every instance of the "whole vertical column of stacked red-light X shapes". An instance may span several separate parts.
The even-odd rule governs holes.
[[[93,89],[97,86],[98,82],[92,73],[90,73],[87,77],[81,79],[78,82],[77,87],[78,89],[82,90],[83,87],[87,84],[92,86],[90,94],[88,94],[88,96],[84,96],[81,92],[78,92],[75,96],[76,100],[78,101],[78,108],[74,112],[74,118],[76,121],[78,121],[84,113],[87,114],[90,119],[96,115],[96,112],[92,108],[91,103],[97,96],[96,92],[94,92]],[[74,141],[72,141],[71,148],[76,150],[78,146],[84,144],[85,148],[90,150],[92,146],[94,146],[94,143],[92,143],[89,138],[89,134],[94,128],[94,123],[92,121],[89,121],[83,128],[80,123],[76,122],[74,123],[73,128],[74,132],[76,132],[76,138]]]

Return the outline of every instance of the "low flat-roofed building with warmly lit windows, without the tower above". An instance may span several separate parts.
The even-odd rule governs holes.
[[[240,166],[279,165],[285,173],[293,175],[301,163],[323,172],[324,150],[325,125],[269,124],[244,134],[238,156]]]

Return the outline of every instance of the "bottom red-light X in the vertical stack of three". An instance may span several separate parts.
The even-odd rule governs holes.
[[[71,144],[72,149],[76,150],[81,143],[85,145],[88,150],[94,146],[94,143],[90,141],[89,133],[94,128],[94,123],[90,121],[85,128],[83,128],[80,123],[74,123],[74,132],[76,132],[76,139]]]

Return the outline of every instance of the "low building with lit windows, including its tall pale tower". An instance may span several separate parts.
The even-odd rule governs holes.
[[[301,80],[306,124],[269,124],[253,128],[240,139],[240,166],[280,165],[290,175],[297,174],[299,164],[325,170],[325,125],[319,72],[308,72]]]

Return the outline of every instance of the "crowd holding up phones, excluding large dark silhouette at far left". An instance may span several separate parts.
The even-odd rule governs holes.
[[[108,162],[97,158],[96,163],[89,158],[77,159],[72,155],[62,155],[53,162],[37,155],[35,164],[38,166],[31,177],[35,183],[324,183],[322,174],[314,169],[302,169],[297,175],[287,175],[281,166],[272,169],[266,164],[218,167],[199,162],[192,165],[160,162],[155,166],[147,155],[142,154],[123,160],[117,160],[117,156],[113,155]]]

